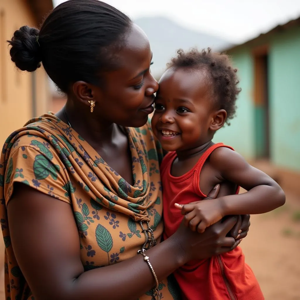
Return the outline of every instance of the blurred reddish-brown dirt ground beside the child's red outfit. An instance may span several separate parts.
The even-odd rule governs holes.
[[[250,231],[241,242],[246,262],[253,269],[266,300],[300,300],[300,194],[285,192],[283,207],[251,216]],[[3,253],[2,238],[0,242],[0,253]],[[3,270],[0,273],[2,299]]]

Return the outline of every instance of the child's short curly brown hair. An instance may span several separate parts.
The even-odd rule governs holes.
[[[220,104],[220,109],[226,110],[226,123],[230,125],[228,120],[235,116],[235,101],[241,88],[237,87],[239,82],[236,76],[237,69],[232,67],[229,56],[224,53],[212,52],[210,48],[202,51],[192,49],[189,52],[179,49],[177,53],[178,55],[171,59],[167,67],[205,67],[213,81],[213,93]]]

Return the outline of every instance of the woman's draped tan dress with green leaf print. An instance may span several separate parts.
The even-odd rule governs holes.
[[[14,182],[27,184],[71,205],[85,271],[137,255],[145,241],[140,221],[149,221],[156,241],[160,241],[162,150],[149,123],[126,131],[132,154],[133,186],[53,114],[30,120],[7,138],[0,159],[0,220],[6,247],[7,300],[34,299],[10,242],[6,205]],[[179,299],[171,280],[163,280],[159,289],[164,300]],[[151,291],[139,298],[150,299]]]

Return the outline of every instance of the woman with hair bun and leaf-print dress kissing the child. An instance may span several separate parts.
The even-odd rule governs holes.
[[[227,232],[236,224],[242,238],[249,219],[240,226],[232,217],[203,234],[181,226],[155,245],[163,230],[162,152],[147,123],[158,89],[147,37],[108,4],[71,0],[40,31],[21,27],[10,45],[19,69],[43,63],[67,104],[4,144],[7,299],[178,299],[168,275],[232,250],[240,240]],[[141,249],[149,250],[137,255]]]

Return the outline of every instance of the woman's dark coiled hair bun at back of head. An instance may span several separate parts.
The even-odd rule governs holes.
[[[11,60],[22,71],[33,72],[41,67],[39,32],[36,28],[22,26],[14,32],[11,41],[8,41],[11,45]]]

